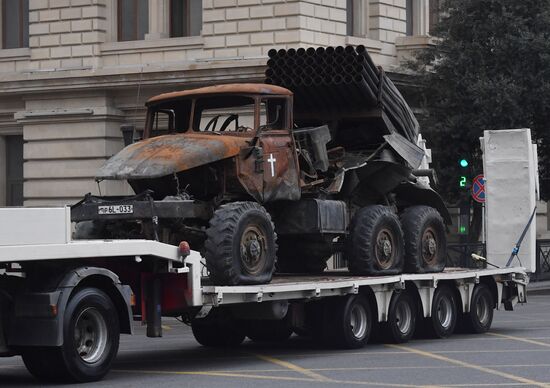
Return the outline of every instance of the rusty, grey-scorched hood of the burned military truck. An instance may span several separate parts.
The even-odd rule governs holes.
[[[200,133],[153,137],[131,144],[111,157],[99,169],[96,179],[159,178],[235,156],[247,140]]]

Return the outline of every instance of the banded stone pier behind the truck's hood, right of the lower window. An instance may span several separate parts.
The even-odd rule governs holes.
[[[123,146],[121,111],[105,92],[37,95],[15,118],[23,125],[25,206],[72,204],[86,193],[124,195],[123,181],[94,181]]]

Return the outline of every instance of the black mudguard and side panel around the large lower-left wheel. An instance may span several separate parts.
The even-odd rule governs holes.
[[[9,347],[63,345],[65,309],[72,291],[84,284],[100,288],[111,297],[119,313],[121,333],[132,334],[130,287],[122,285],[118,276],[105,268],[80,267],[69,270],[53,291],[15,296]]]

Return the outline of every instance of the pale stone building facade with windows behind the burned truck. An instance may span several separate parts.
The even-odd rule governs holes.
[[[391,74],[430,40],[428,0],[0,3],[0,205],[128,192],[93,180],[120,125],[160,92],[261,81],[271,48],[363,44]]]

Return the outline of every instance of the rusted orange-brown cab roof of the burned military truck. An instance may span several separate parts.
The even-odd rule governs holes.
[[[166,101],[190,96],[195,97],[208,94],[262,94],[291,96],[292,92],[281,86],[267,84],[226,84],[206,86],[204,88],[182,90],[171,93],[163,93],[159,94],[158,96],[151,97],[146,104],[150,105],[159,101]]]

